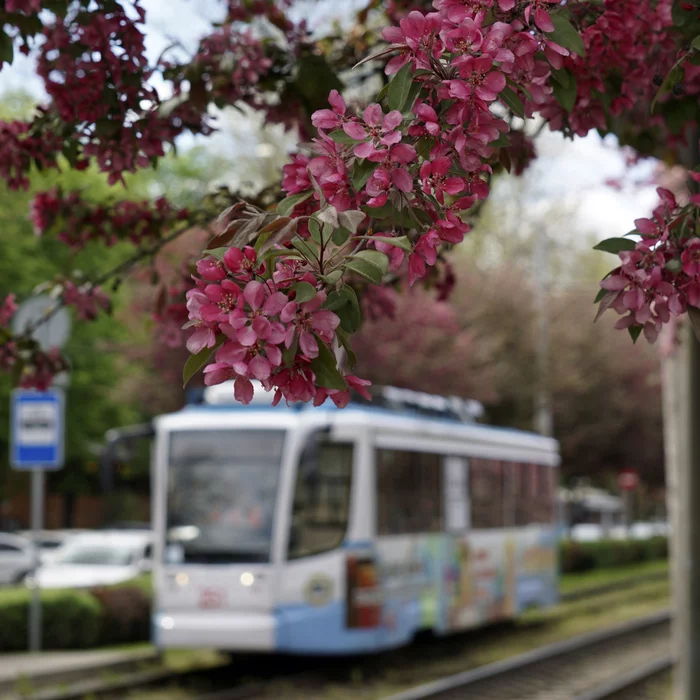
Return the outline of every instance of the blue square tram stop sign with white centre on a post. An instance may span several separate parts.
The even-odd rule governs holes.
[[[10,463],[15,469],[63,466],[64,397],[60,389],[16,389],[10,411]]]

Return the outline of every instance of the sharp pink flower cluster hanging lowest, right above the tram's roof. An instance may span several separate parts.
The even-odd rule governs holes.
[[[249,403],[255,379],[265,390],[275,390],[274,403],[325,401],[347,403],[349,389],[365,391],[366,382],[346,376],[346,390],[316,386],[312,361],[319,357],[320,344],[332,351],[338,316],[323,308],[326,293],[317,291],[304,302],[294,300],[292,285],[316,279],[281,258],[272,277],[266,279],[266,264],[253,248],[231,247],[223,259],[205,257],[197,263],[196,287],[187,292],[194,331],[187,348],[199,353],[217,346],[215,361],[204,368],[205,383],[234,380],[237,400]]]

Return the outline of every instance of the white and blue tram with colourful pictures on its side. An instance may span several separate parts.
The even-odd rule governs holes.
[[[556,601],[556,441],[403,390],[326,404],[224,384],[156,419],[157,646],[366,653]]]

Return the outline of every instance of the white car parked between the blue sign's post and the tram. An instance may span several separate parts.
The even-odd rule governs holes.
[[[36,573],[40,588],[109,586],[151,570],[151,533],[74,535]]]

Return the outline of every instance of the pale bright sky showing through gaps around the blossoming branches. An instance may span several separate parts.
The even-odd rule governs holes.
[[[175,42],[193,51],[211,21],[222,16],[222,4],[217,0],[142,0],[142,5],[147,16],[146,47],[152,61]],[[353,10],[362,5],[363,0],[297,0],[293,18],[305,17],[312,29],[322,32],[331,21],[349,22]],[[155,85],[164,92],[162,84]],[[11,67],[0,71],[0,97],[9,90],[28,91],[37,100],[42,99],[44,93],[41,81],[34,74],[32,58],[19,55]],[[223,151],[230,154],[233,162],[239,151],[245,151],[241,155],[248,160],[254,157],[251,141],[258,140],[260,127],[240,116],[227,117],[224,122],[224,133],[214,141],[217,153],[223,144]],[[277,154],[293,145],[279,132],[269,134],[265,140],[275,146]],[[206,144],[207,140],[185,137],[178,146],[182,149],[193,143]],[[624,156],[613,141],[603,141],[595,133],[565,141],[561,135],[545,130],[538,138],[537,151],[539,158],[526,173],[524,186],[533,206],[538,206],[537,202],[544,208],[552,201],[574,202],[581,225],[599,229],[601,238],[629,231],[633,220],[646,215],[655,204],[653,187],[617,191],[605,184],[608,179],[624,177],[626,172]],[[643,174],[645,169],[651,172],[651,168],[646,163],[637,170]],[[500,186],[500,194],[498,188],[494,194],[508,196],[507,183]]]

